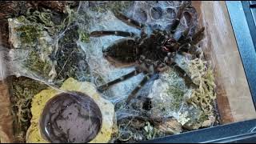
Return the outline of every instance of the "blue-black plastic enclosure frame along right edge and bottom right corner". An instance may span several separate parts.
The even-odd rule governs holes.
[[[238,50],[242,58],[250,93],[256,106],[256,25],[250,12],[249,1],[226,1],[230,21],[237,40]],[[256,119],[244,122],[214,126],[202,130],[194,130],[175,134],[165,138],[156,138],[146,142],[157,143],[237,143],[256,142]]]

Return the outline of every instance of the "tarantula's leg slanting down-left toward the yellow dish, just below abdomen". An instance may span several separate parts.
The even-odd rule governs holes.
[[[102,85],[102,86],[98,86],[97,87],[97,90],[99,91],[103,91],[103,90],[106,90],[108,89],[110,86],[118,83],[118,82],[122,82],[122,81],[125,81],[126,79],[128,78],[131,78],[133,77],[134,75],[137,75],[139,74],[140,72],[138,70],[134,70],[132,72],[130,72],[129,74],[126,74],[126,75],[123,75],[121,78],[117,78],[115,79],[114,81],[111,81],[111,82],[107,82],[106,84]]]

